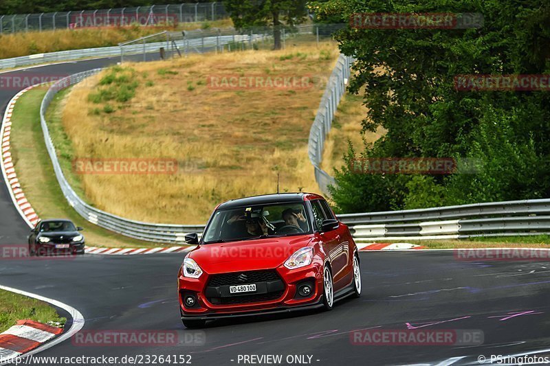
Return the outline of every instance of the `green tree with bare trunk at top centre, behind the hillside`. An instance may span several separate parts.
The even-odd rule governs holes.
[[[281,49],[281,29],[303,23],[305,0],[225,0],[225,10],[236,28],[273,27],[274,49]]]

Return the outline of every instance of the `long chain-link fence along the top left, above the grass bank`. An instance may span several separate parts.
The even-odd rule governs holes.
[[[82,27],[177,25],[228,18],[223,2],[181,3],[41,14],[0,15],[0,34]]]

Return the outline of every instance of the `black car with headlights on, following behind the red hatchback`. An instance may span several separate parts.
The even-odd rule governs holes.
[[[28,236],[30,255],[84,254],[84,236],[71,220],[42,220]]]

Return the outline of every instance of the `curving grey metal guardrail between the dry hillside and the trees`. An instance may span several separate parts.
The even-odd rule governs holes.
[[[314,124],[309,130],[308,155],[309,161],[314,165],[315,180],[321,192],[328,194],[329,185],[334,184],[334,178],[325,170],[320,168],[322,161],[322,150],[325,146],[325,138],[331,130],[334,114],[340,104],[342,95],[346,92],[346,85],[351,72],[353,58],[340,55],[333,69],[327,89],[322,96]]]

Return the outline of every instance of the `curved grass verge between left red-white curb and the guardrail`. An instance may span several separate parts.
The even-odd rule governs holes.
[[[85,228],[86,244],[90,247],[158,247],[160,244],[143,242],[121,236],[112,231],[91,224],[69,206],[57,183],[47,155],[42,128],[40,126],[40,104],[46,89],[35,88],[23,94],[15,104],[12,116],[12,155],[15,170],[32,207],[40,218],[69,218],[77,226]],[[54,100],[54,106],[59,98]],[[54,124],[52,138],[61,139],[63,131]]]

